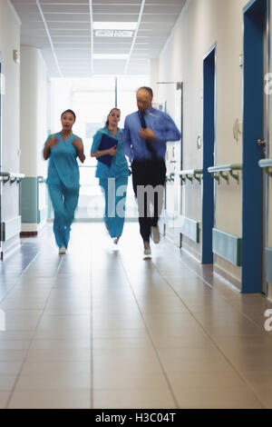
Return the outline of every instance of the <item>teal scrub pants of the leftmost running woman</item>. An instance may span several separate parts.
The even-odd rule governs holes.
[[[58,247],[68,247],[74,211],[78,204],[79,188],[68,189],[63,184],[49,184],[48,191],[53,204],[53,233]]]

